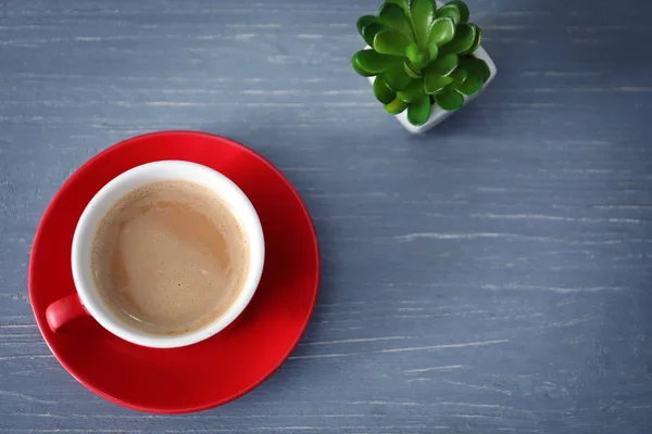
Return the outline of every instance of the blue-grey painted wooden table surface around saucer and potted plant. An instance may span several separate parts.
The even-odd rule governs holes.
[[[378,0],[0,0],[0,433],[650,433],[652,7],[468,4],[498,77],[414,137],[349,64]],[[276,164],[323,276],[275,375],[160,417],[57,362],[26,273],[77,167],[174,128]]]

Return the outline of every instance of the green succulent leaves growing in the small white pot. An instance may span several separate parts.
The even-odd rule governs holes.
[[[461,0],[439,9],[435,0],[387,0],[377,16],[358,20],[371,49],[353,55],[353,68],[375,76],[378,101],[394,115],[408,110],[412,125],[425,124],[432,104],[457,110],[489,78],[485,61],[473,55],[482,31],[468,15]]]

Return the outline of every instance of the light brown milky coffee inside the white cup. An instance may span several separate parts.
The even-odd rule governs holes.
[[[98,225],[95,283],[123,322],[150,334],[179,335],[222,316],[240,294],[249,243],[229,206],[188,181],[140,187]]]

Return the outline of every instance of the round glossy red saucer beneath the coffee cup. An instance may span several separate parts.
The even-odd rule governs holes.
[[[58,334],[46,308],[75,291],[71,242],[84,207],[109,180],[131,167],[185,159],[229,177],[249,196],[265,235],[265,269],[244,312],[227,330],[196,345],[152,349],[93,323]],[[297,346],[317,298],[319,252],[308,210],[290,182],[253,151],[217,136],[165,131],[139,136],[100,153],[59,190],[46,210],[29,261],[29,298],[38,327],[61,365],[98,395],[159,413],[204,410],[266,380]]]

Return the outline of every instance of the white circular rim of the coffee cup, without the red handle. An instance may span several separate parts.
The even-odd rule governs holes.
[[[248,242],[250,245],[250,260],[249,268],[246,277],[246,281],[243,288],[240,291],[240,294],[236,298],[236,301],[231,304],[231,306],[220,315],[215,320],[211,321],[206,326],[193,330],[191,332],[179,334],[179,335],[158,335],[150,334],[137,330],[134,327],[130,327],[123,321],[118,320],[111,314],[111,310],[105,306],[97,294],[97,288],[92,279],[88,279],[85,272],[84,264],[88,260],[83,259],[83,255],[90,255],[90,251],[88,248],[82,247],[82,241],[86,237],[90,235],[91,238],[95,235],[95,231],[97,230],[97,225],[100,219],[105,215],[105,213],[101,213],[100,217],[93,217],[93,210],[100,204],[106,204],[109,201],[109,208],[113,206],[115,200],[108,200],[108,196],[111,193],[114,193],[116,189],[120,189],[125,182],[138,179],[143,174],[148,171],[164,171],[165,169],[181,169],[186,171],[193,171],[198,176],[202,176],[214,182],[216,186],[220,186],[220,191],[216,191],[213,186],[209,186],[204,182],[192,180],[192,182],[197,182],[211,189],[221,199],[224,200],[225,191],[228,190],[229,193],[235,194],[239,204],[241,206],[241,210],[246,214],[244,216],[238,215],[238,220],[242,224],[243,219],[247,219],[250,224],[244,226],[242,224],[242,229],[244,230]],[[186,178],[178,177],[162,177],[161,180],[175,180],[183,179],[188,180]],[[149,181],[143,181],[140,184],[133,186],[130,189],[122,192],[118,195],[123,197],[129,191],[134,189],[147,184]],[[176,348],[183,347],[187,345],[192,345],[195,343],[206,340],[220,331],[227,328],[247,307],[251,298],[253,297],[255,290],[258,289],[264,266],[264,257],[265,257],[265,248],[264,248],[264,237],[263,229],[258,216],[258,213],[247,196],[244,192],[228,177],[221,174],[220,171],[204,166],[202,164],[186,162],[180,159],[164,159],[145,163],[142,165],[133,167],[115,178],[111,179],[106,184],[104,184],[88,202],[82,216],[77,220],[77,226],[75,228],[75,232],[73,235],[72,250],[71,250],[71,265],[73,272],[73,280],[75,283],[75,290],[79,295],[82,304],[88,310],[90,316],[92,316],[104,329],[109,332],[115,334],[116,336],[130,342],[136,345],[141,345],[146,347],[152,348]]]

